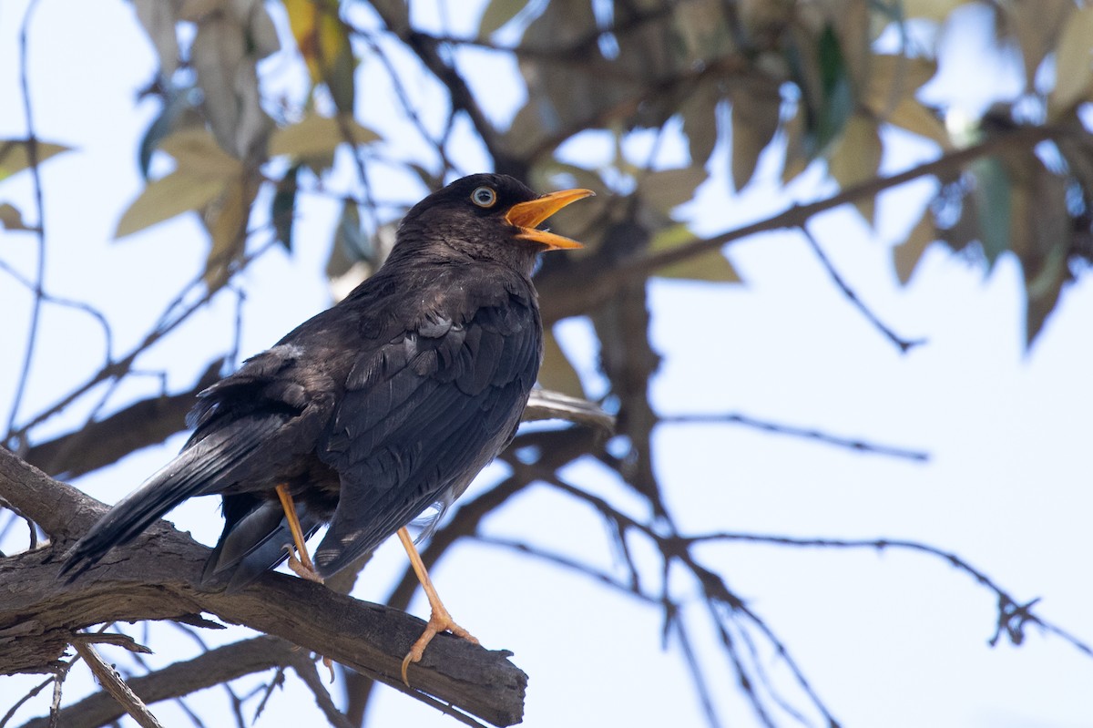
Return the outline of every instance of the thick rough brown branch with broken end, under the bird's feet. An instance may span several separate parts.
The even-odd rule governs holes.
[[[440,635],[411,668],[414,689],[407,689],[399,668],[421,634],[421,620],[281,574],[270,574],[236,595],[209,590],[201,584],[208,549],[163,521],[66,585],[57,578],[64,541],[82,533],[106,506],[2,448],[0,497],[59,541],[0,560],[0,673],[50,671],[73,632],[93,624],[210,612],[326,655],[403,692],[422,698],[421,693],[435,695],[494,725],[521,719],[527,676],[508,661],[507,653]]]

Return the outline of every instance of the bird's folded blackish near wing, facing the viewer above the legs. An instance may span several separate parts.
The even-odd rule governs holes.
[[[355,363],[319,451],[341,477],[314,557],[320,574],[466,488],[515,433],[539,367],[540,324],[530,293],[482,285],[489,293],[465,284],[461,309],[439,302]]]

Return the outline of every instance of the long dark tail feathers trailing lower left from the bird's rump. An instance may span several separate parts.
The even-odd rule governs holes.
[[[274,347],[203,391],[191,413],[197,430],[183,451],[92,527],[61,574],[74,579],[188,497],[259,480],[258,473],[314,448],[333,396],[307,390],[297,355],[292,347]]]

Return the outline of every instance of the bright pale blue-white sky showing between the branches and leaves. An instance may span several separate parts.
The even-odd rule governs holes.
[[[24,7],[9,3],[0,14],[0,97],[7,99],[19,98],[15,37]],[[418,16],[434,16],[426,5],[418,8]],[[449,12],[448,17],[458,15]],[[136,101],[137,90],[151,78],[153,56],[132,22],[130,5],[43,0],[31,31],[37,131],[44,139],[77,148],[43,171],[47,284],[103,309],[116,322],[118,353],[139,340],[174,292],[198,274],[205,243],[189,219],[121,242],[111,239],[118,216],[140,190],[134,144],[156,110],[151,103]],[[482,72],[484,60],[480,55],[468,58],[465,68],[472,78]],[[1012,68],[1004,59],[996,67],[1004,87],[1007,69]],[[504,69],[492,62],[487,68],[491,83],[481,87],[494,91],[485,105],[495,118],[504,118],[519,99],[504,81]],[[372,82],[363,87],[384,93],[374,64],[366,63],[362,73]],[[292,81],[286,83],[291,86]],[[423,99],[435,95],[424,80],[411,89]],[[413,153],[413,140],[399,136],[398,124],[379,117],[381,107],[362,104],[362,121],[385,134],[385,150],[391,154]],[[0,138],[24,133],[17,104],[4,104]],[[930,153],[914,140],[902,142],[885,158],[885,169],[904,168]],[[600,153],[597,140],[585,143],[579,153],[595,160]],[[643,143],[634,140],[635,154]],[[465,172],[485,163],[473,143],[459,150]],[[678,151],[669,144],[663,154],[662,162],[669,164]],[[695,203],[679,211],[701,232],[732,228],[834,190],[822,169],[781,190],[776,160],[768,158],[756,180],[732,196],[725,184],[727,154],[719,148],[715,179]],[[0,201],[12,201],[33,216],[28,179],[23,177],[0,185]],[[959,553],[1018,598],[1043,597],[1038,613],[1093,641],[1093,585],[1086,563],[1093,547],[1086,455],[1093,418],[1093,389],[1088,386],[1093,286],[1083,280],[1067,289],[1030,352],[1023,349],[1020,271],[1011,259],[1003,257],[985,277],[978,263],[935,248],[912,284],[901,287],[892,270],[891,245],[917,218],[930,190],[929,183],[918,183],[882,197],[883,223],[875,232],[853,211],[842,210],[818,218],[811,226],[834,265],[881,319],[904,337],[927,340],[907,354],[898,353],[848,305],[794,233],[756,236],[728,249],[744,285],[650,284],[653,341],[665,356],[653,391],[660,411],[740,412],[926,450],[930,461],[860,455],[740,425],[663,425],[656,446],[668,504],[690,533],[922,540]],[[393,175],[385,191],[392,201],[407,202],[421,193]],[[271,253],[244,274],[244,355],[268,347],[328,303],[321,271],[337,204],[315,200],[301,214],[296,250],[291,256]],[[30,236],[4,234],[0,257],[24,275],[34,271]],[[2,272],[0,280],[5,328],[16,342],[0,353],[0,383],[8,383],[0,389],[0,413],[7,415],[30,297]],[[293,295],[285,296],[286,290]],[[172,389],[190,386],[214,353],[231,347],[235,305],[231,296],[222,296],[142,359],[141,368],[167,368]],[[102,339],[81,314],[49,308],[44,327],[23,418],[83,381],[102,362]],[[596,389],[587,324],[566,321],[560,333]],[[193,351],[208,356],[195,356]],[[153,377],[139,379],[120,388],[110,406],[157,388]],[[81,422],[89,408],[73,408],[42,435]],[[180,444],[181,436],[175,437],[77,484],[115,501]],[[497,472],[487,471],[469,496],[489,488]],[[642,515],[640,503],[602,469],[580,463],[566,475]],[[220,531],[216,507],[211,498],[187,503],[172,519],[211,542]],[[534,486],[506,505],[484,530],[495,538],[579,555],[604,571],[620,570],[599,518],[548,486]],[[633,545],[648,552],[647,544]],[[991,595],[940,560],[900,552],[729,544],[710,544],[700,554],[790,647],[844,725],[1093,725],[1093,695],[1088,690],[1093,661],[1034,627],[1020,648],[990,648],[986,643],[996,613]],[[651,554],[643,563],[644,576],[655,583],[659,576]],[[354,594],[383,599],[403,568],[399,547],[385,544]],[[678,650],[671,643],[668,651],[661,649],[656,608],[604,591],[585,576],[475,542],[454,549],[435,576],[456,619],[486,646],[515,651],[515,662],[531,676],[526,725],[703,725]],[[678,594],[694,594],[685,575],[673,574],[673,582]],[[427,613],[423,598],[415,599],[412,611]],[[726,724],[751,725],[753,718],[740,702],[701,604],[694,602],[689,611]],[[169,625],[154,625],[151,634],[158,653],[155,664],[192,654],[192,644]],[[238,638],[239,633],[205,636],[219,642]],[[128,658],[108,659],[125,665]],[[773,656],[764,665],[784,679]],[[0,678],[0,692],[21,694],[35,682]],[[66,696],[91,689],[85,673],[73,672]],[[795,703],[804,704],[799,696]],[[214,712],[224,707],[224,697],[205,691],[190,704]],[[46,709],[47,703],[38,701],[20,715],[28,718]],[[293,679],[269,709],[266,725],[278,725],[290,715],[317,717],[314,701]],[[156,713],[171,725],[185,720],[173,706],[157,707]],[[377,695],[372,719],[372,725],[454,725],[389,691]]]

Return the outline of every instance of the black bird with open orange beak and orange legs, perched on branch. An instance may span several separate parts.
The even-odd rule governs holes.
[[[61,576],[73,582],[183,501],[219,494],[205,583],[235,591],[286,559],[321,582],[398,533],[431,608],[403,682],[436,634],[477,644],[407,526],[443,513],[515,436],[543,352],[532,272],[539,254],[581,247],[540,227],[591,195],[477,174],[425,197],[372,277],[198,395],[179,455],[75,543]]]

